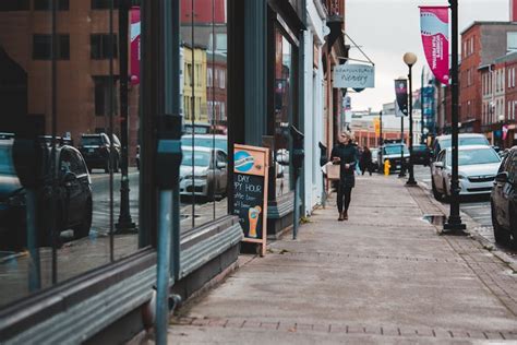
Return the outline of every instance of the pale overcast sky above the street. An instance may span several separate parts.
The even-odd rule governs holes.
[[[509,0],[459,0],[459,32],[473,21],[508,21]],[[381,110],[395,99],[394,80],[408,74],[402,56],[418,57],[413,90],[420,87],[423,63],[419,5],[448,5],[447,0],[346,0],[346,32],[375,63],[375,88],[351,93],[352,110]],[[351,45],[350,41],[348,44]],[[461,51],[459,51],[461,52]],[[350,58],[364,60],[357,48]]]

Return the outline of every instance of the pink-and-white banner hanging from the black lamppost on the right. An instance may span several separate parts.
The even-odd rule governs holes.
[[[431,71],[436,80],[448,85],[448,7],[420,7],[420,32]]]

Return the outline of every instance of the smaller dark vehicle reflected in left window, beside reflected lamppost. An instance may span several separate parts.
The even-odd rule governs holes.
[[[113,172],[119,172],[121,145],[119,139],[115,134],[113,148]],[[109,172],[111,142],[108,134],[82,134],[79,150],[81,151],[84,160],[86,160],[89,172],[95,168],[104,169],[105,172]]]

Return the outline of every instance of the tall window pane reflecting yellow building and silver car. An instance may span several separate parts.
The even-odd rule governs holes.
[[[226,0],[181,1],[182,231],[228,213],[226,9]]]

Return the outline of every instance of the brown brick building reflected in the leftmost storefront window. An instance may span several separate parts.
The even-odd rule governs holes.
[[[12,1],[11,1],[12,2]],[[118,117],[118,11],[113,11],[110,37],[106,1],[59,1],[56,25],[59,44],[56,63],[55,111],[57,134],[70,134],[79,143],[82,133],[108,132],[110,83],[113,92],[113,132],[119,134]],[[2,87],[17,90],[20,97],[2,99],[9,114],[40,115],[45,132],[51,132],[52,93],[50,37],[51,11],[48,1],[20,1],[16,11],[0,11],[0,63],[19,71]],[[112,40],[111,40],[112,39]],[[113,41],[113,59],[110,59]],[[110,75],[110,60],[113,78]],[[9,61],[5,63],[4,61]],[[70,72],[72,71],[72,72]],[[9,71],[0,71],[5,75]],[[12,73],[11,73],[12,74]],[[139,85],[129,91],[130,157],[137,140]],[[5,109],[4,108],[4,109]],[[2,119],[5,120],[5,119]]]

